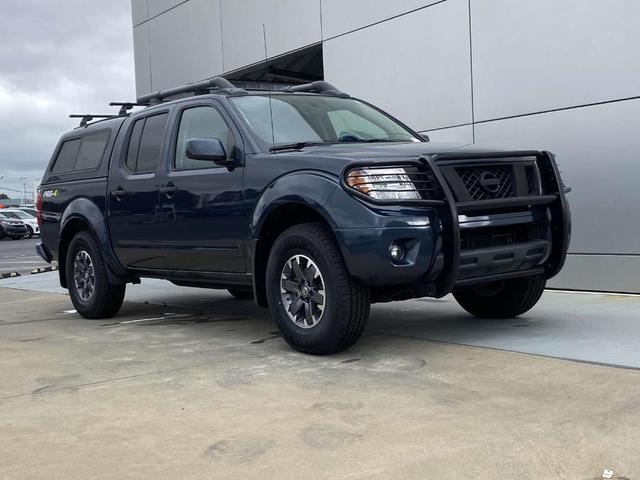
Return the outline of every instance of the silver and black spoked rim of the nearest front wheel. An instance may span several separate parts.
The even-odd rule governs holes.
[[[284,310],[300,328],[313,328],[324,316],[327,294],[318,265],[305,255],[294,255],[282,268],[280,296]]]

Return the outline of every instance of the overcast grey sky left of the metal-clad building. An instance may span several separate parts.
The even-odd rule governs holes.
[[[70,113],[134,100],[130,0],[2,0],[0,192],[42,176]]]

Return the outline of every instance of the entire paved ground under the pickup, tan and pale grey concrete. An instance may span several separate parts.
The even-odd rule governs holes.
[[[638,297],[376,305],[309,357],[223,292],[144,281],[90,321],[55,275],[0,283],[0,478],[640,476]]]

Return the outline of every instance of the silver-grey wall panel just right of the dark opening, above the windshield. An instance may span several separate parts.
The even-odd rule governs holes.
[[[471,122],[467,0],[324,42],[325,79],[418,130]]]

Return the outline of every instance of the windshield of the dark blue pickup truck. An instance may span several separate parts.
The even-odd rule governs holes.
[[[268,95],[232,101],[249,127],[268,144],[421,141],[383,113],[352,98],[275,94],[271,106]]]

